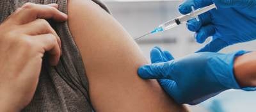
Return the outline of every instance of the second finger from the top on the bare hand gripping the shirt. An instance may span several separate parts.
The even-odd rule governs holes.
[[[56,31],[51,27],[51,25],[44,19],[36,19],[33,22],[29,22],[28,24],[24,24],[21,26],[22,32],[28,35],[42,35],[51,33],[56,36],[58,45],[61,49],[61,40]]]

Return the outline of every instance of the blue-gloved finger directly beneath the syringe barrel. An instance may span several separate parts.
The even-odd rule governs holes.
[[[196,19],[188,20],[187,26],[190,31],[198,31],[201,26],[205,26],[207,24],[211,24],[211,13],[205,12],[198,16],[199,21]]]

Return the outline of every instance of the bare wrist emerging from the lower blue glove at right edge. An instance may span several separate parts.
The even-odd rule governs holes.
[[[234,61],[234,74],[241,87],[256,86],[256,52],[238,56]]]

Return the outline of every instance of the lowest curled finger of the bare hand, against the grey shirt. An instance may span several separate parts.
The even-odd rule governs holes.
[[[57,42],[57,37],[49,33],[33,36],[33,40],[36,44],[39,44],[42,47],[42,54],[45,52],[49,53],[49,63],[52,66],[56,66],[61,56],[61,50]]]

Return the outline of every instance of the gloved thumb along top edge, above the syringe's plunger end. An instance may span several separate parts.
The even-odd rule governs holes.
[[[230,8],[230,7],[252,7],[256,6],[255,0],[212,0],[217,7]]]

